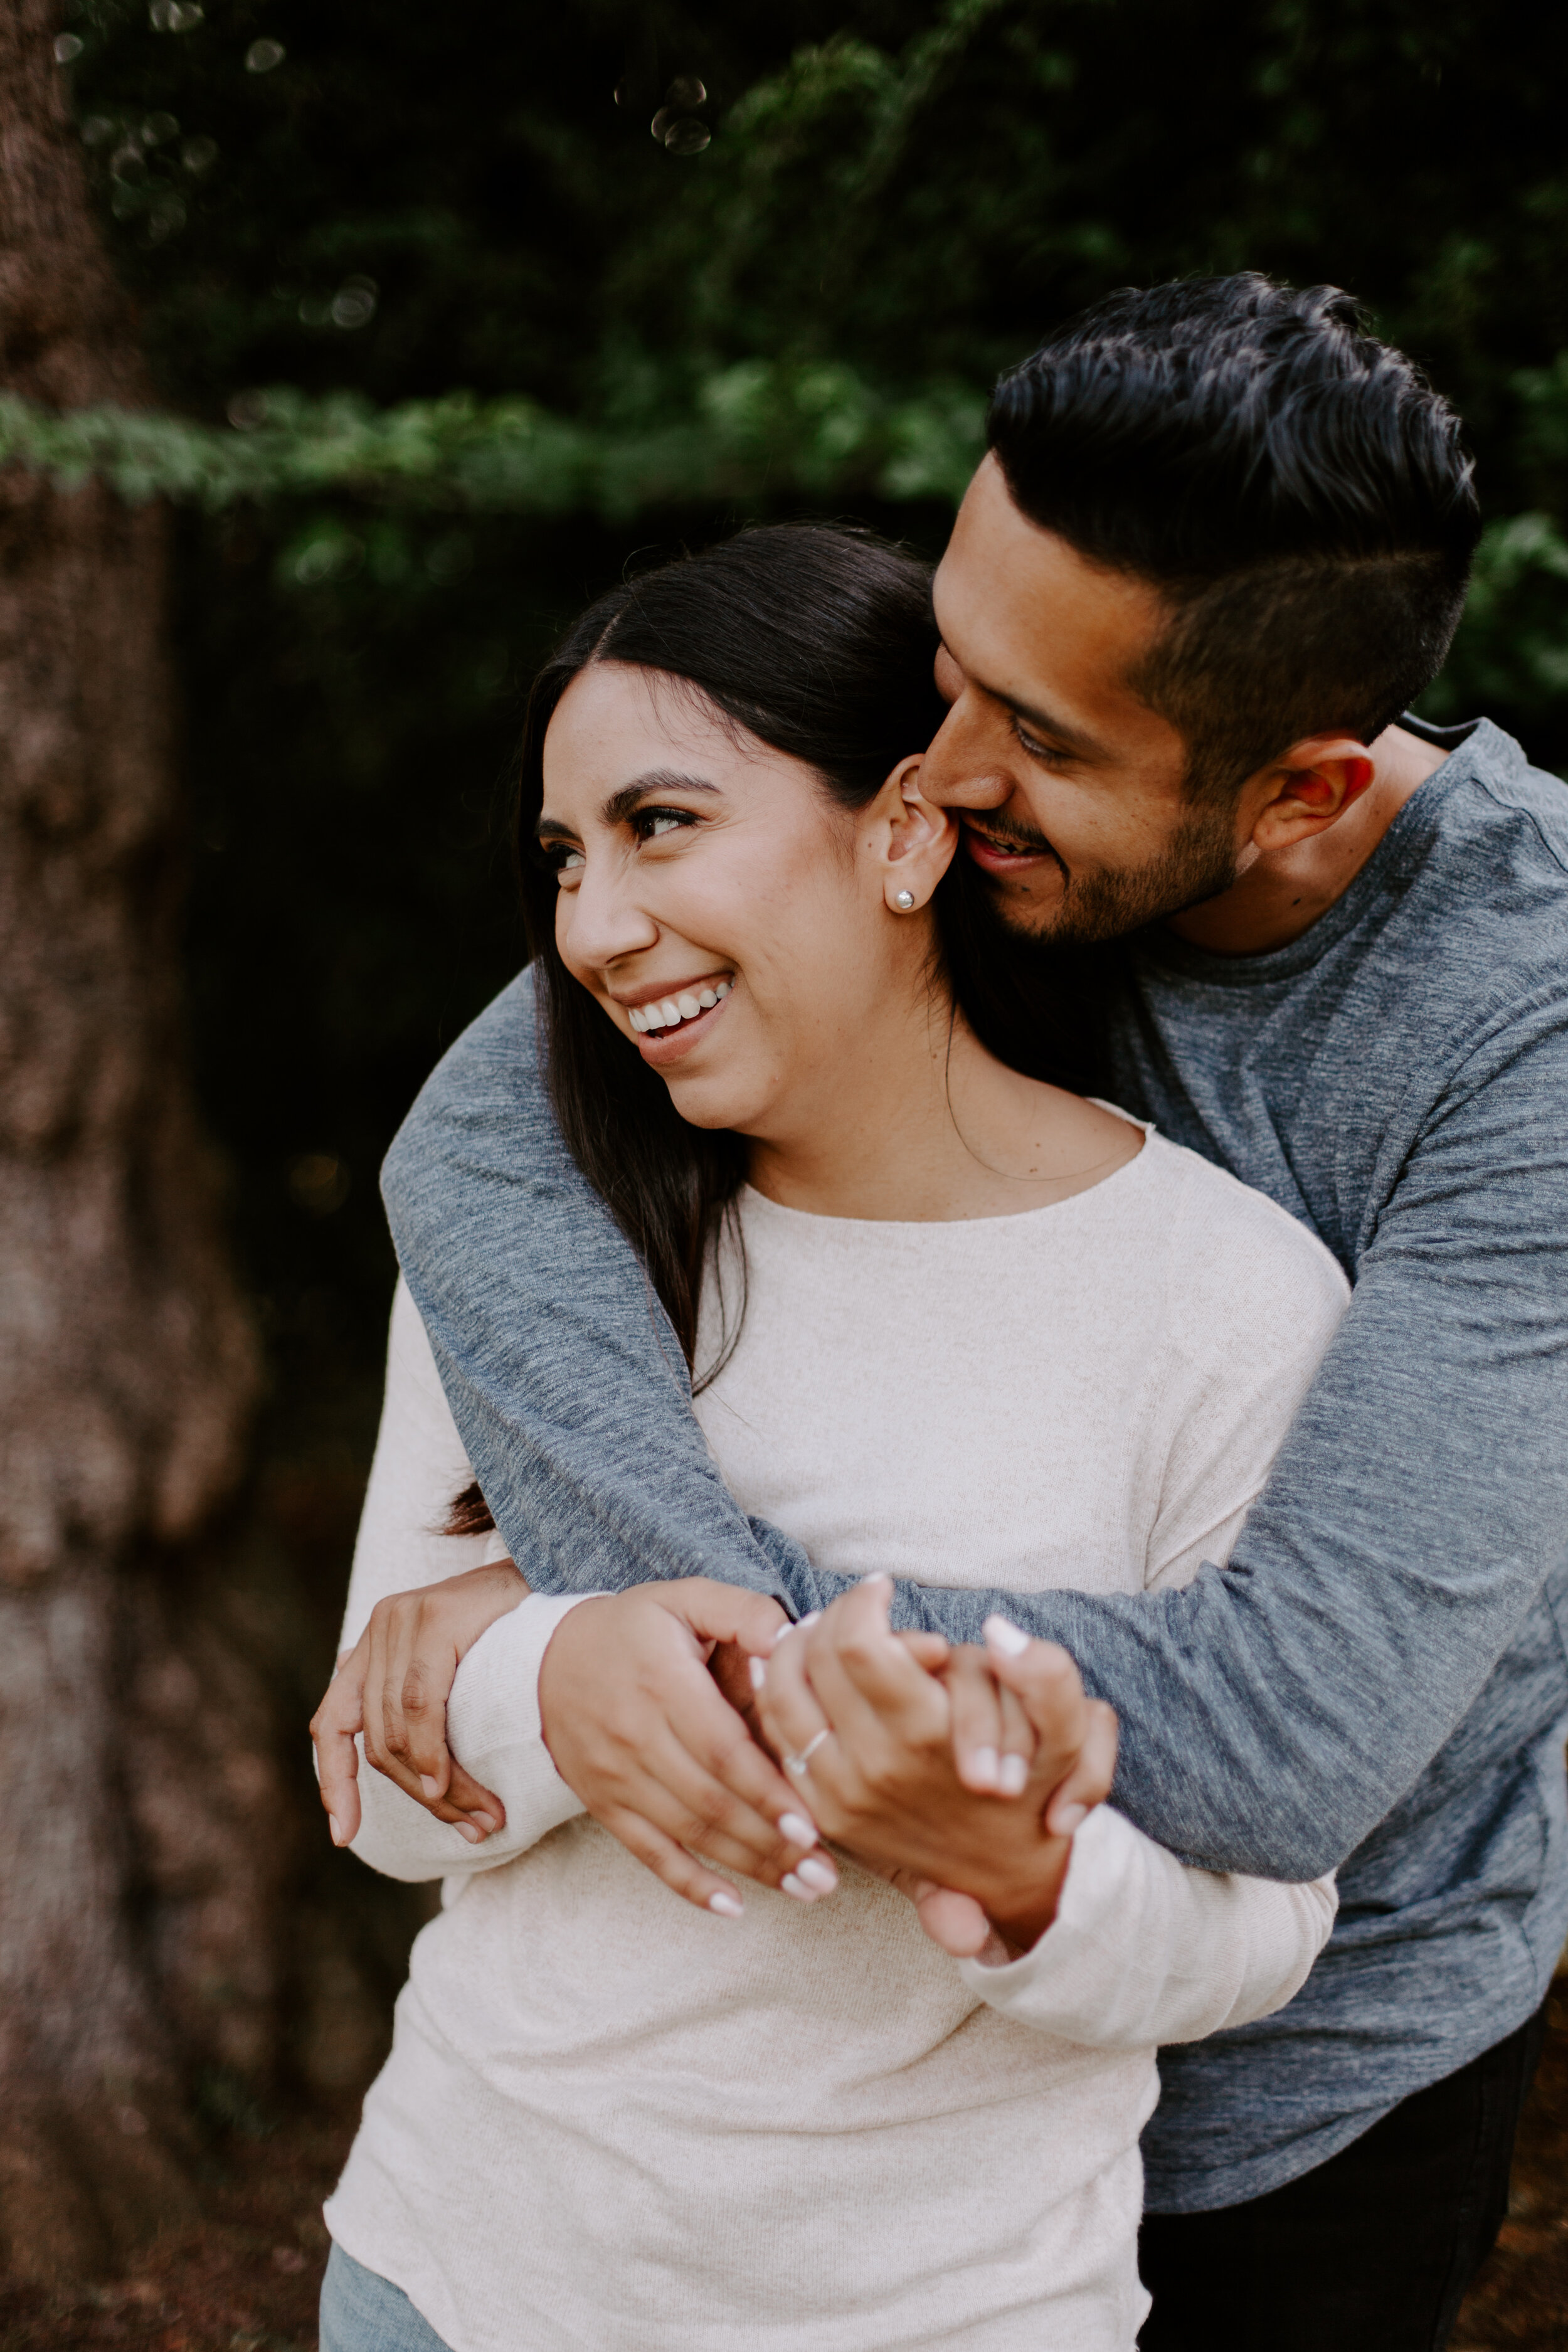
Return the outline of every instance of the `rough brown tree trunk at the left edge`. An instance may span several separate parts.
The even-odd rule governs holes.
[[[0,386],[136,405],[56,31],[0,9]],[[256,1357],[181,1033],[165,572],[155,506],[0,475],[0,2270],[33,2277],[179,2216],[193,2039],[259,2065],[270,1997],[266,1698],[193,1550]]]

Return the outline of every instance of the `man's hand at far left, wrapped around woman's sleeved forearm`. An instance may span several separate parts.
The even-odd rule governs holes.
[[[527,1595],[515,1562],[496,1559],[376,1602],[310,1719],[334,1844],[348,1846],[360,1835],[360,1731],[376,1771],[470,1844],[505,1823],[501,1799],[447,1748],[447,1698],[480,1635]]]

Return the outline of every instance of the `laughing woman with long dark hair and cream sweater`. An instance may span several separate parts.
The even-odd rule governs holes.
[[[954,835],[907,755],[931,652],[922,569],[806,527],[642,579],[567,637],[522,755],[562,1134],[642,1249],[719,1470],[818,1564],[1180,1583],[1225,1557],[1345,1282],[1260,1195],[964,1021]],[[449,1569],[428,1529],[465,1479],[402,1294],[348,1639]],[[1190,1872],[1110,1809],[1044,1839],[1060,1755],[1013,1710],[1025,1802],[961,1802],[976,1851],[1004,1816],[1039,1839],[1039,1907],[992,1905],[997,1938],[954,1962],[884,1877],[816,1851],[835,1724],[849,1755],[879,1700],[813,1698],[795,1635],[762,1675],[795,1867],[741,1903],[693,1863],[682,1907],[552,1764],[557,1693],[590,1689],[559,1661],[642,1639],[658,1595],[517,1597],[451,1686],[496,1835],[364,1790],[357,1851],[456,1898],[327,2209],[327,2352],[400,2326],[425,2352],[1128,2352],[1154,2046],[1288,1999],[1331,1889]],[[929,1738],[936,1658],[879,1632],[877,1585],[839,1609],[870,1621],[877,1719]],[[1048,1729],[1004,1646],[994,1682]],[[875,1856],[898,1858],[987,1893],[919,1818]]]

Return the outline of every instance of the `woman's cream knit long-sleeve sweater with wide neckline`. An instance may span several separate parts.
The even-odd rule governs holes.
[[[1262,1195],[1150,1136],[1051,1209],[952,1225],[743,1197],[750,1303],[698,1414],[745,1510],[830,1569],[1138,1590],[1225,1559],[1345,1310]],[[400,1287],[343,1639],[484,1545]],[[494,1548],[494,1538],[491,1538]],[[1333,1889],[1187,1870],[1112,1809],[1056,1924],[954,1964],[879,1879],[679,1903],[555,1776],[529,1599],[463,1661],[477,1851],[362,1771],[355,1851],[447,1877],[334,2237],[454,2352],[1131,2352],[1159,2042],[1281,2006]],[[1201,1771],[1204,1759],[1194,1757]]]

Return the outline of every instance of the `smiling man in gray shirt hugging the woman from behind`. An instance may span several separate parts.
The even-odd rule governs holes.
[[[1103,1091],[1354,1282],[1227,1571],[1004,1604],[1117,1708],[1143,1830],[1340,1867],[1295,2004],[1161,2067],[1143,2340],[1427,2352],[1495,2234],[1568,1931],[1568,800],[1488,722],[1401,720],[1476,503],[1455,419],[1345,296],[1114,296],[1004,379],[990,440],[936,579],[952,708],[922,774],[997,929],[973,1018],[1027,1051],[1044,950],[1093,955]],[[386,1169],[512,1555],[538,1590],[830,1599],[719,1489],[531,1051],[515,983]],[[1001,1604],[898,1595],[954,1639]],[[693,1755],[719,1705],[693,1693]]]

